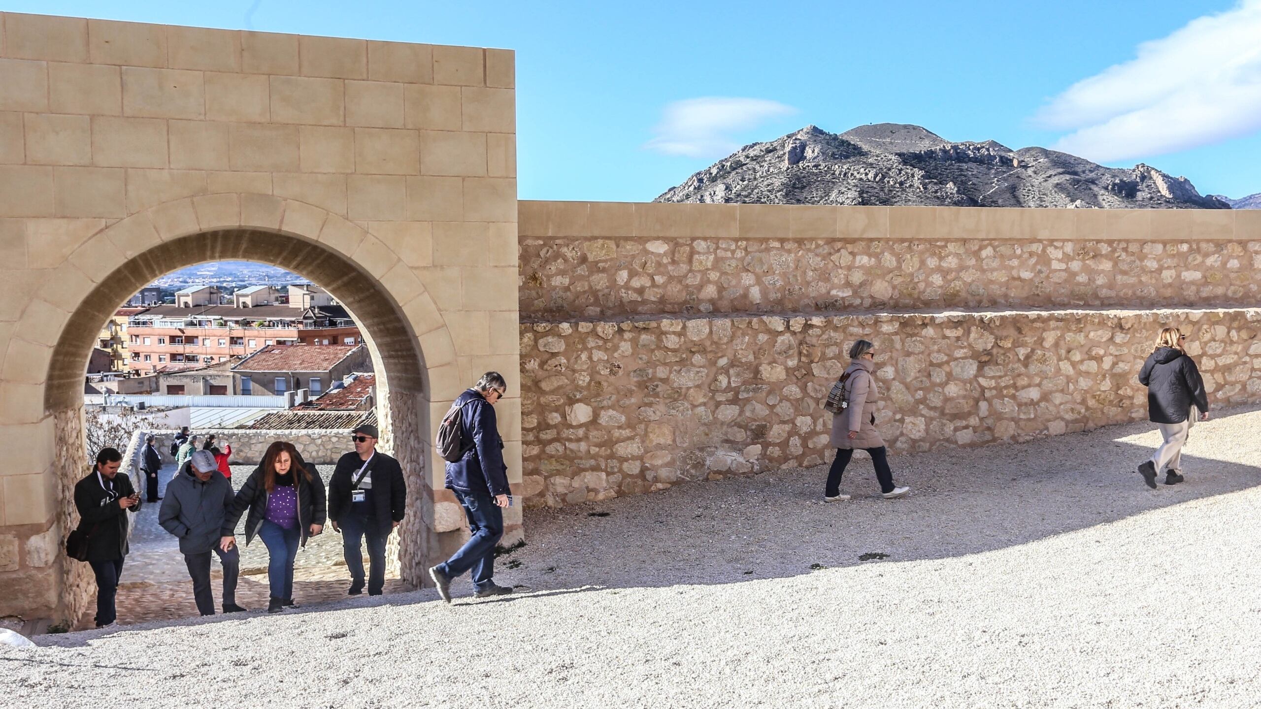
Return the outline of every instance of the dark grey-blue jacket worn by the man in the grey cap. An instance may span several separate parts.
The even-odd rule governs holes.
[[[184,463],[166,484],[166,496],[158,510],[158,524],[179,539],[183,554],[212,551],[223,536],[223,519],[232,511],[232,483],[214,471],[202,482],[193,474],[192,463]]]

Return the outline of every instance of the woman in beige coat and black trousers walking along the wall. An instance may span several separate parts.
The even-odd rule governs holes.
[[[850,464],[854,449],[861,448],[871,454],[871,463],[875,464],[875,477],[880,481],[880,493],[886,498],[902,497],[910,492],[909,487],[895,487],[893,484],[893,471],[889,469],[888,452],[880,431],[875,429],[875,405],[880,401],[880,390],[871,376],[871,362],[875,360],[874,344],[866,339],[860,339],[850,347],[850,366],[845,373],[845,400],[849,406],[845,413],[832,416],[832,445],[836,447],[836,458],[832,468],[827,472],[827,487],[823,489],[825,502],[840,502],[849,500],[849,495],[841,495],[841,476],[845,467]]]

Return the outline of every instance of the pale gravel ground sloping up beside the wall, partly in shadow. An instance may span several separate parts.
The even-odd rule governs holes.
[[[1256,706],[1258,426],[1158,491],[1134,424],[897,458],[898,501],[860,462],[528,512],[518,595],[40,636],[0,706]]]

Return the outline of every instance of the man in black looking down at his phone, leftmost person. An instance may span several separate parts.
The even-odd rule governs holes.
[[[96,627],[113,624],[113,597],[119,590],[122,560],[127,556],[127,511],[140,508],[131,478],[119,474],[122,453],[102,448],[92,472],[74,484],[78,529],[87,535],[87,563],[96,574]]]

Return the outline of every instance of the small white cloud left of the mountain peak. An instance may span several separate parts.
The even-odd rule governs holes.
[[[667,155],[723,158],[740,148],[733,134],[796,114],[792,106],[764,98],[706,96],[675,101],[662,111],[656,138],[644,148]]]

